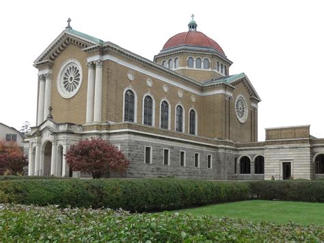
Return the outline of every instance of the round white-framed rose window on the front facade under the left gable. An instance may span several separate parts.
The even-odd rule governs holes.
[[[62,64],[57,77],[57,90],[65,99],[77,94],[82,82],[82,68],[77,60],[67,60]]]

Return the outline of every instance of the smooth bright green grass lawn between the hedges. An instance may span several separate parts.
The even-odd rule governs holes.
[[[300,225],[324,225],[324,203],[303,203],[287,201],[241,201],[176,210],[194,215],[209,214],[246,220],[266,220]]]

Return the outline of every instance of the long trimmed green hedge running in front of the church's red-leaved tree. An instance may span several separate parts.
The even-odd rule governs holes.
[[[248,183],[189,179],[25,179],[0,181],[0,203],[109,207],[152,212],[249,198]]]

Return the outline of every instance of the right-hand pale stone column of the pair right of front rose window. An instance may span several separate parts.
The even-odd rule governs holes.
[[[94,122],[101,122],[101,102],[103,96],[103,61],[96,61],[96,84],[94,87]]]

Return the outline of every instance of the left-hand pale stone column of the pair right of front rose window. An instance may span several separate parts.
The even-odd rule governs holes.
[[[94,121],[94,64],[87,63],[87,115],[86,123]]]

